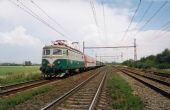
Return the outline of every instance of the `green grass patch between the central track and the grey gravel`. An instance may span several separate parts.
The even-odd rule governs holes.
[[[138,96],[133,95],[133,90],[128,83],[118,74],[109,77],[107,88],[112,98],[112,108],[118,110],[143,110],[144,105]]]

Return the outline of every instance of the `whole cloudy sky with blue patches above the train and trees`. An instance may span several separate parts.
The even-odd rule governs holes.
[[[83,41],[86,47],[115,47],[131,46],[136,38],[138,59],[170,49],[170,1],[139,2],[0,0],[0,63],[41,63],[43,46],[61,39],[79,42],[82,51]],[[85,53],[92,57],[112,56],[102,57],[102,61],[122,62],[133,59],[134,49],[86,49]]]

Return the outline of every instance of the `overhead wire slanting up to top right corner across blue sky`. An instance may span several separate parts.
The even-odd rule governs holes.
[[[161,11],[161,9],[168,3],[168,1],[165,1],[160,8],[146,21],[146,23],[139,29],[142,30],[158,13]]]

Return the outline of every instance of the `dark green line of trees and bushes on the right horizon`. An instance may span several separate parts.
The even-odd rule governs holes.
[[[159,69],[169,69],[170,68],[170,50],[165,49],[162,53],[157,55],[150,55],[143,57],[138,61],[130,59],[122,63],[130,67],[136,68],[159,68]]]

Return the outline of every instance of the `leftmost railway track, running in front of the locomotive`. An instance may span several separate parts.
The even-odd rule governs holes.
[[[47,83],[54,82],[56,80],[35,80],[35,81],[29,81],[29,82],[24,82],[20,84],[15,84],[15,85],[9,85],[9,86],[4,86],[1,87],[0,91],[0,96],[8,96],[10,94],[15,94],[27,89],[31,89],[34,87],[38,87]]]

